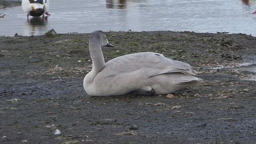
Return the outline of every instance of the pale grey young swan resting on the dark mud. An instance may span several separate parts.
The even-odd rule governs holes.
[[[170,94],[201,81],[191,76],[196,71],[189,64],[155,52],[127,54],[105,63],[101,46],[113,47],[104,32],[94,31],[89,40],[92,70],[84,77],[90,96]]]

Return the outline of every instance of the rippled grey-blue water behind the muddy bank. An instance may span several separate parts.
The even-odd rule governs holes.
[[[21,6],[2,8],[0,35],[174,30],[246,33],[256,36],[256,0],[51,0],[47,20]]]

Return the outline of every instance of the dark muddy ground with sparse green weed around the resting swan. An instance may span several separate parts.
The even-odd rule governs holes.
[[[160,52],[191,64],[204,82],[175,98],[90,97],[90,34],[0,37],[0,143],[256,143],[255,75],[234,66],[255,62],[256,38],[246,34],[106,32],[105,60]],[[158,104],[163,103],[163,104]],[[155,104],[157,106],[155,106]],[[61,133],[54,135],[58,129]]]

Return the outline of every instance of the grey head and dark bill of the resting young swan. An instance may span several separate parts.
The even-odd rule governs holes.
[[[92,35],[90,36],[89,43],[100,43],[100,46],[106,46],[106,47],[114,47],[112,44],[108,42],[108,39],[104,32],[101,30],[96,30],[92,32]]]

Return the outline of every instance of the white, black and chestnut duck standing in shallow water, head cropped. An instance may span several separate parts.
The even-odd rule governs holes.
[[[50,2],[49,0],[22,0],[22,9],[28,16],[42,16],[44,14],[50,16],[48,13]]]

